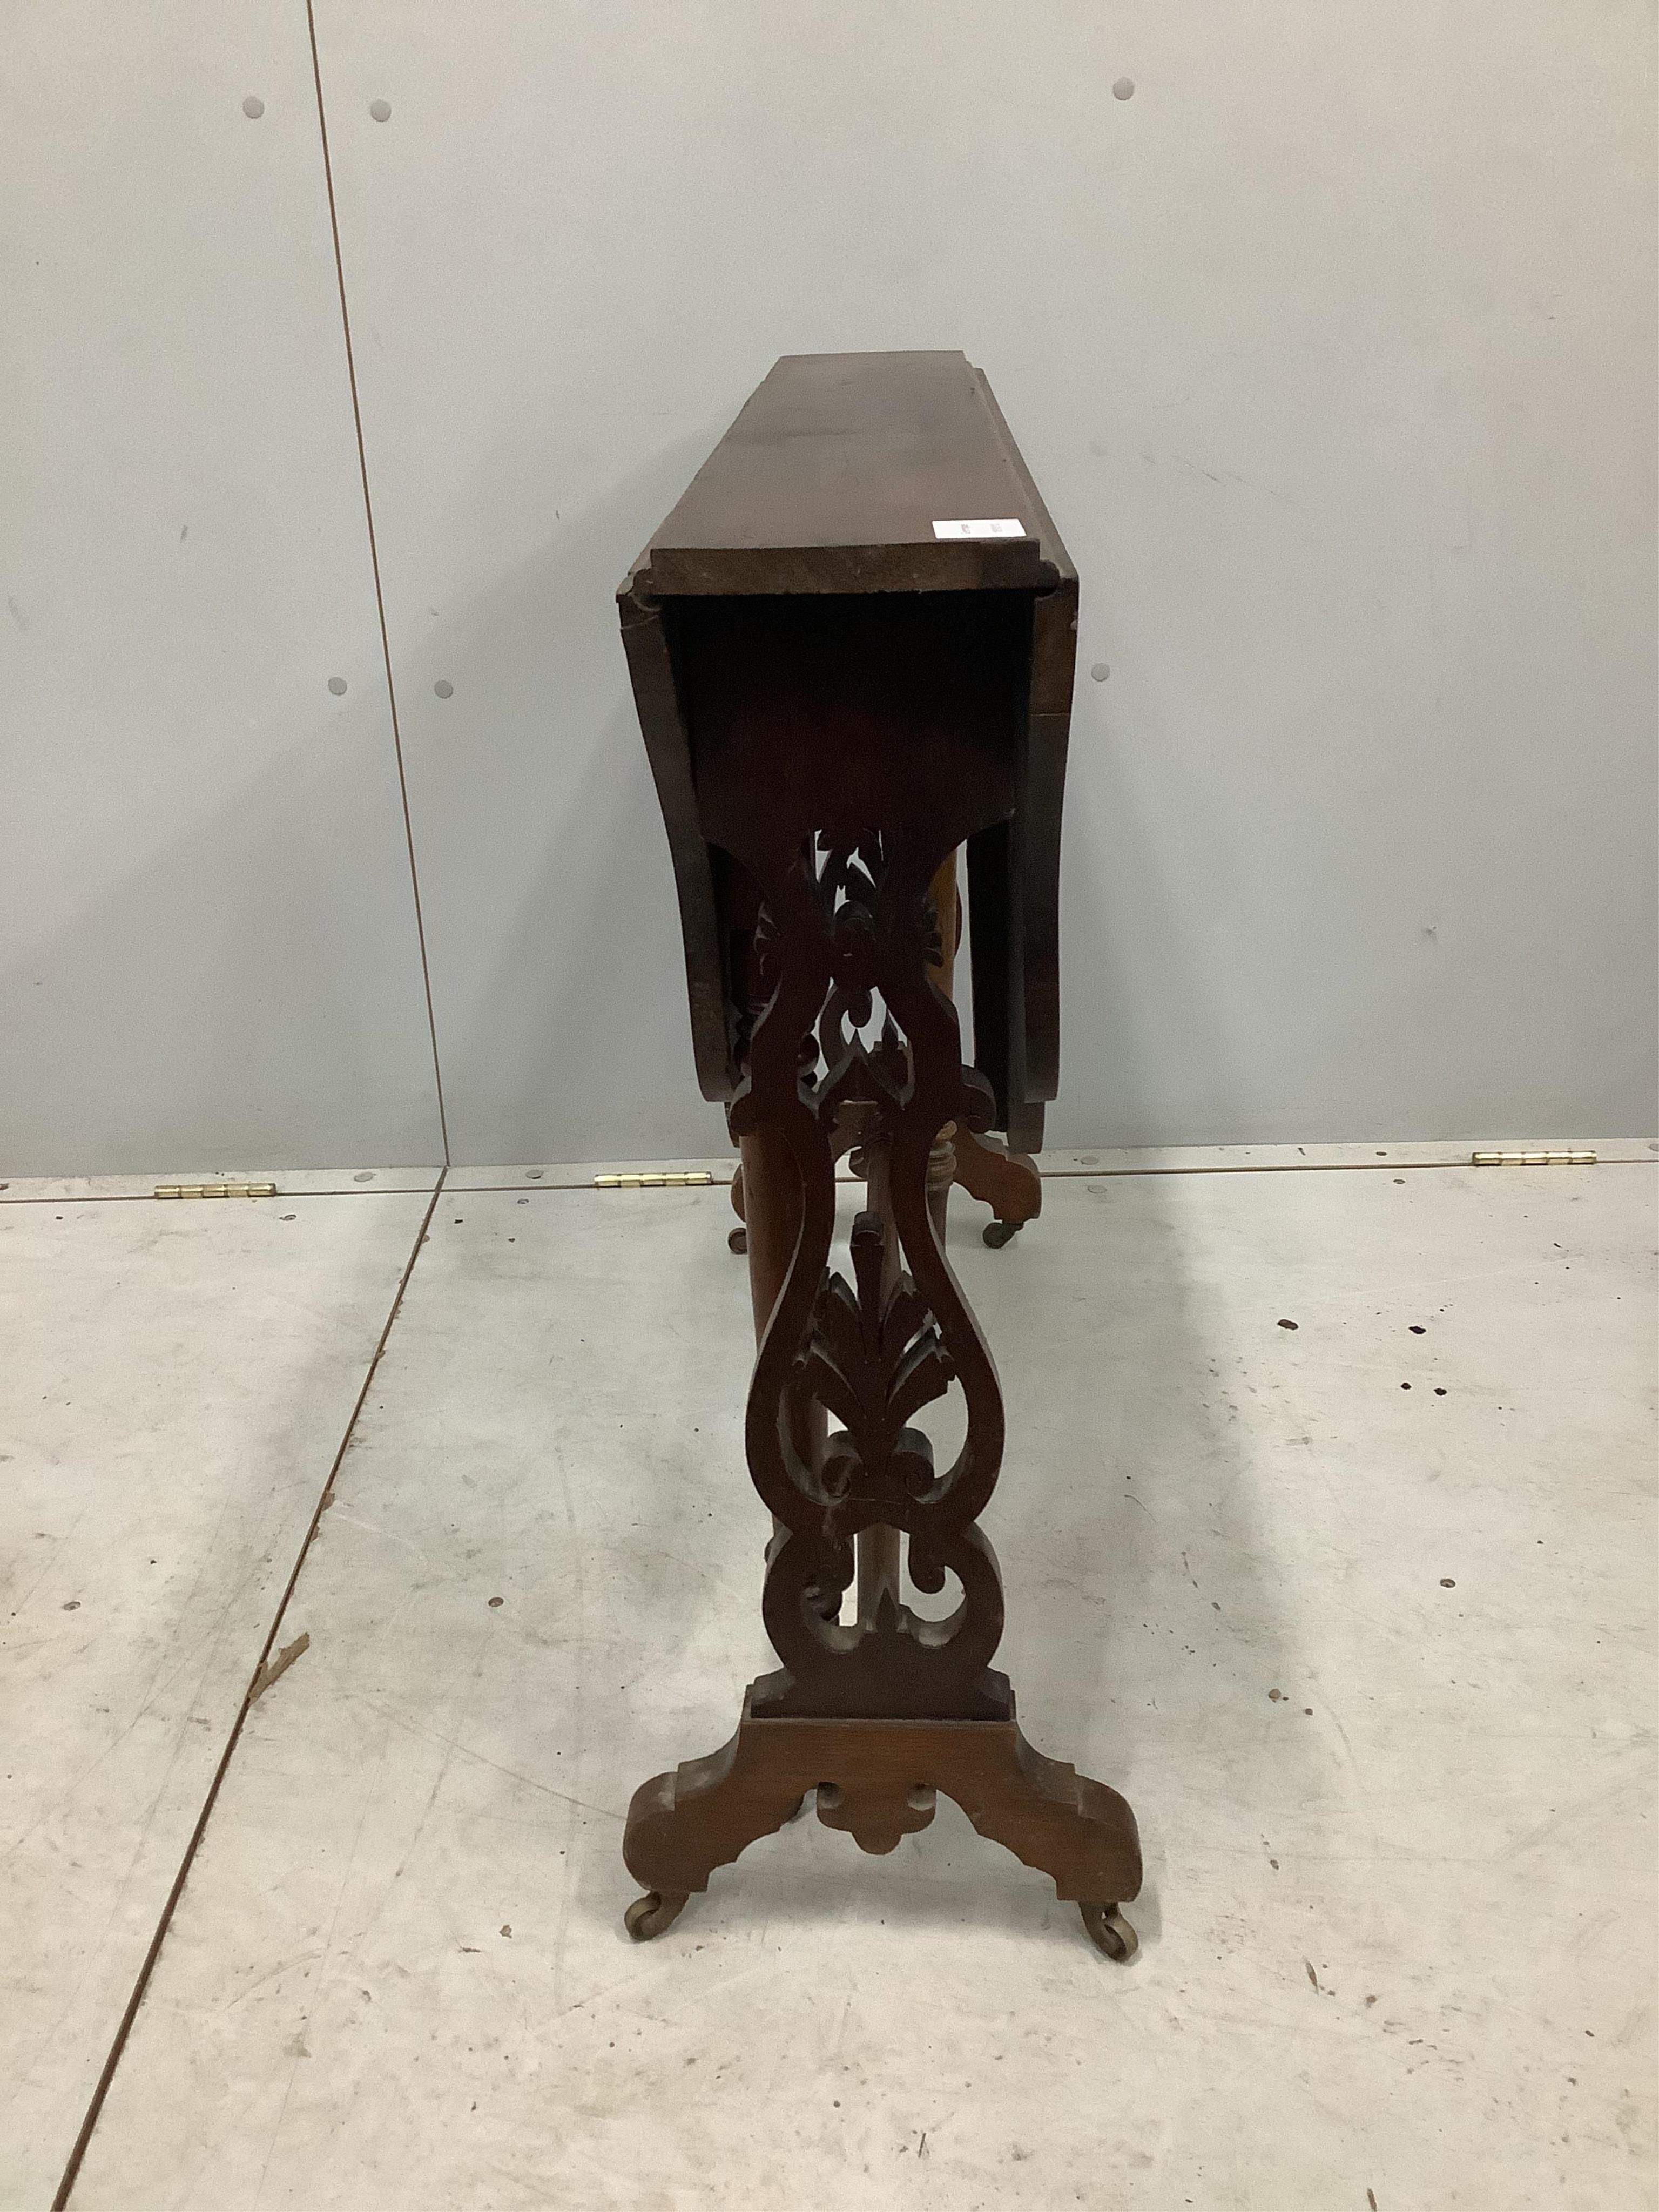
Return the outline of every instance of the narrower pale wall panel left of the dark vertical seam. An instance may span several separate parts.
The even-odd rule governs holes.
[[[0,1172],[440,1159],[305,9],[2,75]]]

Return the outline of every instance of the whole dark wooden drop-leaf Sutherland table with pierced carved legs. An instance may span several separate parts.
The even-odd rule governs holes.
[[[1115,1790],[1022,1736],[978,1517],[991,1352],[945,1256],[951,1137],[1042,1144],[1060,1066],[1060,799],[1077,575],[962,354],[776,363],[622,586],[679,889],[697,1075],[743,1155],[750,1475],[781,1659],[732,1741],[644,1783],[622,1854],[657,1936],[816,1794],[865,1851],[945,1790],[1051,1874],[1113,1958],[1141,1880]],[[940,982],[967,845],[978,1066]],[[834,1161],[863,1152],[849,1276]],[[916,1416],[960,1391],[933,1464]],[[918,1617],[900,1577],[938,1593]],[[854,1604],[843,1606],[847,1590]]]

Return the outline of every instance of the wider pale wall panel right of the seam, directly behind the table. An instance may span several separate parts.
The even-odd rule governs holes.
[[[885,345],[1084,577],[1055,1139],[1650,1121],[1641,0],[319,29],[458,1159],[710,1141],[611,591]]]

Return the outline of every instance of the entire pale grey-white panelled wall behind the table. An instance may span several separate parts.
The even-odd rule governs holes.
[[[1084,584],[1053,1139],[1650,1128],[1648,0],[316,0],[332,204],[296,0],[7,15],[0,1172],[438,1159],[425,973],[458,1164],[719,1148],[611,595],[911,345]]]

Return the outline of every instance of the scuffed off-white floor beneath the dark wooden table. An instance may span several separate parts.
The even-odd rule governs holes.
[[[11,1186],[0,2205],[1659,2201],[1624,1150],[958,1199],[1000,1663],[1139,1814],[1126,1969],[947,1803],[626,1940],[633,1785],[768,1663],[723,1190]]]

